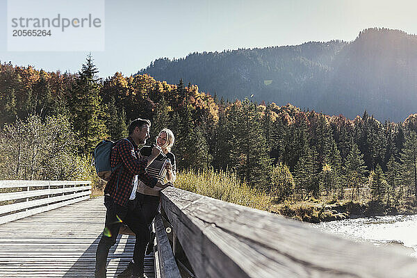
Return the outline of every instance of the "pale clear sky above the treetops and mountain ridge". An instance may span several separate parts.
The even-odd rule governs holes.
[[[87,52],[7,51],[6,7],[0,0],[1,63],[80,70]],[[106,0],[105,8],[106,50],[92,51],[101,77],[134,74],[156,58],[194,51],[351,41],[369,27],[417,33],[417,2],[411,0]]]

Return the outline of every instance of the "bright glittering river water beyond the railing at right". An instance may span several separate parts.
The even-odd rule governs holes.
[[[311,224],[330,234],[356,241],[369,241],[374,245],[400,241],[411,247],[411,256],[417,257],[417,215],[375,216],[372,218],[345,219]]]

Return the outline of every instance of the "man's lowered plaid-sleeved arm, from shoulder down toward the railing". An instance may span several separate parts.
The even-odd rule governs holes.
[[[124,167],[133,174],[137,174],[138,178],[147,186],[154,188],[158,180],[146,171],[147,158],[142,160],[136,158],[135,149],[131,142],[122,140],[119,144],[120,157],[122,158]]]

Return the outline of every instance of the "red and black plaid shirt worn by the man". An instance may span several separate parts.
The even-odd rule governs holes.
[[[126,206],[133,189],[133,179],[138,175],[138,179],[147,186],[153,188],[157,182],[155,178],[146,171],[147,158],[142,159],[138,145],[132,138],[120,140],[111,151],[111,167],[116,167],[122,163],[123,167],[111,173],[110,179],[104,188],[104,193],[110,195],[117,204]],[[119,185],[117,177],[120,173]]]

